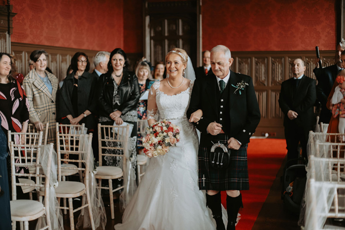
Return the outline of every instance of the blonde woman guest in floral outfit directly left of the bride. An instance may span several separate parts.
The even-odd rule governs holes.
[[[146,59],[143,59],[140,61],[136,67],[136,75],[138,77],[138,83],[140,87],[140,95],[142,96],[146,91],[148,91],[151,87],[151,81],[150,78],[152,78],[151,75],[151,66],[149,63],[147,63]],[[147,119],[147,99],[139,100],[138,107],[138,119],[145,120]],[[140,129],[140,127],[138,127]],[[138,139],[142,138],[141,134],[138,133]],[[142,142],[138,140],[137,144],[141,144]],[[142,148],[140,148],[142,149]]]

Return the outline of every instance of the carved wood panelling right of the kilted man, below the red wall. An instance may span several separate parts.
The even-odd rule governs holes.
[[[255,136],[268,132],[271,137],[284,138],[283,118],[279,108],[280,85],[292,77],[291,65],[296,58],[306,63],[305,75],[316,79],[313,73],[316,55],[314,51],[256,51],[232,52],[235,72],[253,78],[256,97],[261,111],[261,121]],[[321,51],[322,65],[334,64],[334,51]]]

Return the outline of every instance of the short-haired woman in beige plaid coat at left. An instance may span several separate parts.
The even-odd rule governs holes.
[[[47,143],[55,143],[56,137],[56,93],[58,78],[47,71],[48,54],[45,50],[35,50],[30,59],[34,68],[25,76],[23,87],[29,100],[29,120],[38,131],[43,131],[49,122]]]

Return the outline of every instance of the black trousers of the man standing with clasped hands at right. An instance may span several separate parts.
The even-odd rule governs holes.
[[[311,130],[311,129],[310,129]],[[287,160],[296,159],[299,156],[298,143],[301,142],[302,156],[307,157],[307,144],[309,138],[308,128],[300,127],[297,125],[285,126],[285,139],[286,139],[286,149],[287,149]]]

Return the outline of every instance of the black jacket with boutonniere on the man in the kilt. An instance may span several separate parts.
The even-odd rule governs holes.
[[[232,85],[236,86],[242,80],[248,83],[248,86],[241,90],[241,95],[239,91],[234,94],[236,88]],[[236,138],[244,145],[249,143],[249,138],[255,132],[261,118],[253,81],[250,76],[230,70],[228,84],[230,84],[230,133],[226,134]],[[216,87],[218,87],[218,83],[213,73],[196,79],[194,82],[187,117],[189,119],[191,114],[198,109],[203,110],[203,119],[193,123],[201,132],[201,146],[208,146],[208,143],[215,137],[207,134],[207,126],[218,118]]]

